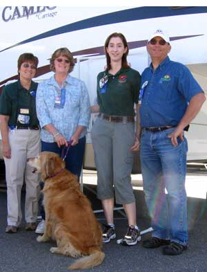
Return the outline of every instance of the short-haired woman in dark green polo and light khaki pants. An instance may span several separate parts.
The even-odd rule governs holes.
[[[38,58],[23,53],[17,63],[19,80],[4,87],[0,98],[1,136],[6,165],[8,226],[6,233],[16,233],[21,224],[21,188],[26,183],[26,230],[35,230],[38,213],[39,183],[27,159],[39,154],[39,121],[32,81]]]

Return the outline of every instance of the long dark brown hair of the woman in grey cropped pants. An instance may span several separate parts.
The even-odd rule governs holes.
[[[110,66],[110,56],[108,55],[107,51],[106,51],[106,48],[108,48],[108,44],[110,42],[110,39],[113,38],[113,37],[119,37],[121,39],[121,41],[123,42],[124,44],[124,48],[127,48],[126,50],[126,53],[124,53],[124,55],[122,56],[122,60],[121,60],[121,66],[123,68],[128,68],[129,65],[128,65],[128,62],[126,60],[126,57],[128,55],[128,43],[126,42],[126,37],[124,37],[124,35],[122,33],[112,33],[108,36],[108,38],[106,39],[106,42],[104,44],[104,51],[105,51],[105,54],[106,54],[106,64],[107,64],[107,69],[110,70],[111,69],[111,66]]]

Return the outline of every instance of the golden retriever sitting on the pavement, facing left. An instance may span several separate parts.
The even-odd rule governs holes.
[[[65,169],[65,163],[53,152],[41,152],[28,163],[41,173],[46,228],[38,242],[54,239],[51,253],[81,257],[68,269],[89,269],[103,262],[102,233],[90,201],[81,192],[77,176]],[[82,257],[84,256],[84,257]]]

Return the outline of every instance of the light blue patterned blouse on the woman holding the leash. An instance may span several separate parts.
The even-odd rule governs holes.
[[[55,107],[57,90],[60,89],[55,81],[55,75],[48,80],[39,83],[36,96],[37,118],[41,126],[41,140],[54,142],[54,137],[43,127],[52,123],[55,128],[67,139],[70,140],[75,133],[77,126],[86,127],[79,138],[87,133],[90,120],[90,100],[86,84],[68,75],[63,83],[66,89],[66,102],[62,109]]]

